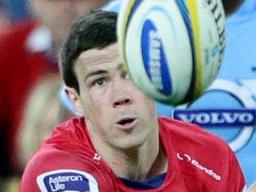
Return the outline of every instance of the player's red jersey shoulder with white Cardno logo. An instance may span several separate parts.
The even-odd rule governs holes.
[[[195,188],[197,183],[208,191],[226,188],[225,191],[234,191],[229,186],[242,191],[245,185],[242,171],[225,141],[195,124],[168,118],[159,120],[161,137],[169,149],[172,146],[186,183]]]

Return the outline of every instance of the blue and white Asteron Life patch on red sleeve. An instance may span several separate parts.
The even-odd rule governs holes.
[[[90,173],[74,169],[58,169],[40,174],[36,182],[42,192],[99,191],[98,182]]]

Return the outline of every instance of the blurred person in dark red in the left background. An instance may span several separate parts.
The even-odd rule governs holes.
[[[57,55],[74,19],[106,0],[29,0],[34,18],[0,36],[0,179],[18,173],[16,143],[29,91],[58,73]]]

